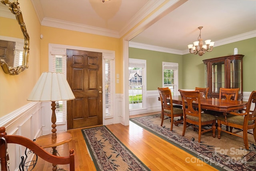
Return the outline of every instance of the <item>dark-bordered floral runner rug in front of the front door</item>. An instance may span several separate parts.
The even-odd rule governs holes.
[[[107,127],[82,129],[97,171],[150,171]]]

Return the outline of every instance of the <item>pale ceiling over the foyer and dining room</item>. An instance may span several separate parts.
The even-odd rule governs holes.
[[[199,36],[214,46],[256,37],[256,0],[32,0],[41,25],[188,53]],[[144,19],[146,16],[146,20]],[[138,35],[137,35],[138,34]],[[137,36],[136,36],[137,35]]]

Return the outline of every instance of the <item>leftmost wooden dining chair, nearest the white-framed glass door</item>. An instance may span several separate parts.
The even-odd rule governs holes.
[[[160,88],[158,87],[158,92],[160,94],[161,99],[161,126],[163,125],[164,119],[171,119],[171,128],[172,131],[173,124],[178,125],[182,123],[182,119],[180,120],[174,120],[174,117],[183,116],[183,110],[173,107],[172,105],[172,93],[171,90],[168,87]],[[167,103],[167,98],[170,98],[170,103]],[[167,116],[167,118],[164,118],[164,116]]]

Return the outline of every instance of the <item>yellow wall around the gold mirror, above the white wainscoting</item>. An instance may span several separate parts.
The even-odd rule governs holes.
[[[16,76],[0,68],[0,117],[29,103],[26,99],[40,77],[40,22],[30,0],[19,3],[30,36],[29,66]]]

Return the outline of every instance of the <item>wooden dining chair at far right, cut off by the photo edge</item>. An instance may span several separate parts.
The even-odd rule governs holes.
[[[251,110],[251,106],[254,106],[254,109]],[[244,146],[246,149],[249,149],[248,145],[248,129],[253,129],[253,136],[256,142],[256,91],[252,91],[250,94],[245,113],[236,113],[228,112],[229,115],[220,116],[217,118],[218,123],[218,139],[220,139],[221,131],[229,133],[231,135],[236,135],[244,139]],[[221,125],[226,125],[230,127],[230,131],[222,130]],[[235,127],[238,129],[236,132],[232,132],[232,128]],[[243,131],[243,135],[238,135],[237,133]]]

